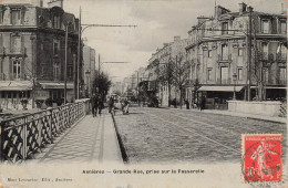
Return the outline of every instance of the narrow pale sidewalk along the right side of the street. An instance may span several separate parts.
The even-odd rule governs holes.
[[[246,113],[236,113],[236,112],[229,112],[229,111],[219,111],[219,109],[186,109],[185,106],[181,109],[173,108],[173,107],[163,107],[163,108],[171,108],[171,109],[178,109],[178,111],[192,111],[192,112],[200,112],[200,113],[207,113],[207,114],[219,114],[219,115],[229,115],[229,116],[237,116],[237,117],[246,117],[246,118],[254,118],[254,119],[260,119],[260,121],[268,121],[268,122],[276,122],[276,123],[287,123],[286,117],[269,117],[269,116],[263,116],[263,115],[256,115],[256,114],[246,114]]]

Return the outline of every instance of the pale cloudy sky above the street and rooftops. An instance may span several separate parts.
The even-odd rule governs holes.
[[[11,0],[2,0],[8,1]],[[270,13],[280,13],[281,3],[287,6],[286,0],[64,0],[64,10],[79,18],[81,7],[82,23],[137,25],[89,28],[82,34],[88,45],[100,53],[101,62],[128,62],[101,65],[113,81],[122,81],[146,66],[152,53],[172,42],[174,35],[188,38],[197,17],[214,15],[215,3],[238,11],[240,2]]]

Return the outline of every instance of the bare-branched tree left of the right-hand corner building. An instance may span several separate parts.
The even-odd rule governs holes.
[[[173,83],[175,85],[175,88],[178,88],[179,91],[179,105],[182,108],[183,105],[183,93],[185,88],[185,83],[187,82],[189,77],[189,67],[191,64],[186,61],[186,56],[184,53],[179,52],[175,59],[172,59],[174,61],[174,71],[173,71]]]

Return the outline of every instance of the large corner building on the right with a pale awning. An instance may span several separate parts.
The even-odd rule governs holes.
[[[234,100],[247,100],[248,85],[250,100],[286,96],[286,13],[256,12],[245,3],[237,12],[217,6],[215,15],[199,17],[188,34],[191,103],[206,98],[206,108],[225,109],[234,92]]]

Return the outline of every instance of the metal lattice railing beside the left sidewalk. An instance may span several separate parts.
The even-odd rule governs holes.
[[[86,114],[89,102],[81,101],[2,121],[0,160],[13,164],[32,159],[34,154],[41,153]]]

